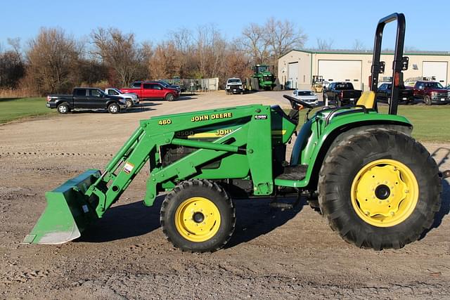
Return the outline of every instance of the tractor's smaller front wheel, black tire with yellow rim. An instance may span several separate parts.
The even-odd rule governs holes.
[[[214,252],[230,240],[236,209],[217,183],[184,181],[167,194],[161,206],[162,232],[174,247],[190,252]]]

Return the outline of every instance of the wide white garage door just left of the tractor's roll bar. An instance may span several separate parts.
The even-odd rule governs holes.
[[[323,80],[352,82],[361,89],[361,60],[319,60],[319,73]]]

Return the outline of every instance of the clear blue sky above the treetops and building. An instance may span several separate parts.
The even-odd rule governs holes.
[[[88,37],[96,27],[134,32],[137,41],[158,43],[168,32],[214,24],[225,37],[238,37],[243,27],[270,18],[295,22],[308,35],[306,48],[317,39],[333,40],[333,48],[353,48],[359,39],[373,46],[376,22],[393,12],[406,15],[405,45],[424,51],[450,51],[450,1],[2,1],[0,45],[8,37],[25,44],[40,27],[60,27],[75,37]],[[385,30],[383,48],[394,47],[394,25]]]

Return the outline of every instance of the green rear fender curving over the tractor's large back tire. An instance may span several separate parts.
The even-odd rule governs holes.
[[[308,169],[305,178],[299,181],[296,187],[316,190],[319,170],[328,151],[356,131],[382,127],[408,135],[412,131],[412,125],[408,119],[397,115],[370,114],[361,118],[352,117],[352,119],[353,121],[349,121],[344,117],[328,126],[323,126],[323,119],[312,118],[302,126],[293,147],[290,164],[307,164]]]

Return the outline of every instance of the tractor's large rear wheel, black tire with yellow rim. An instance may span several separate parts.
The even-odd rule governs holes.
[[[442,186],[437,165],[411,136],[361,130],[338,143],[321,167],[319,204],[349,243],[399,249],[434,221]]]

